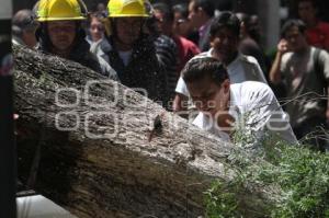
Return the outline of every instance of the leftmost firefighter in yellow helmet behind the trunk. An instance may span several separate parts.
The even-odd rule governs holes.
[[[97,72],[116,79],[116,72],[101,57],[89,51],[81,22],[87,9],[78,0],[39,0],[35,5],[37,49],[79,62]]]

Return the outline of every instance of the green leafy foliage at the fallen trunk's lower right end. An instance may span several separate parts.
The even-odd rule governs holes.
[[[329,154],[270,136],[262,146],[258,154],[269,164],[254,165],[253,161],[232,154],[230,161],[238,163],[237,176],[228,185],[216,181],[205,192],[206,216],[242,217],[237,214],[242,211],[238,195],[246,191],[241,188],[261,184],[282,190],[281,198],[264,217],[329,218]]]

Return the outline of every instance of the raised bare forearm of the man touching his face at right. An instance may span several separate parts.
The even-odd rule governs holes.
[[[277,51],[275,55],[275,59],[272,64],[271,70],[270,70],[270,81],[273,84],[277,84],[281,82],[281,60],[282,56],[288,51],[288,46],[286,39],[281,39],[277,44]]]

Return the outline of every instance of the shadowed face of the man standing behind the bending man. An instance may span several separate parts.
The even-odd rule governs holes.
[[[229,64],[238,51],[238,36],[227,27],[223,27],[211,37],[211,46],[220,61]]]

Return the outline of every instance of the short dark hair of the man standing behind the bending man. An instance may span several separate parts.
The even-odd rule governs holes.
[[[219,14],[219,16],[214,18],[211,24],[211,36],[215,36],[216,33],[224,27],[230,30],[237,37],[239,37],[240,21],[236,14],[229,11],[224,11]]]

